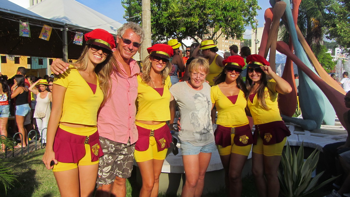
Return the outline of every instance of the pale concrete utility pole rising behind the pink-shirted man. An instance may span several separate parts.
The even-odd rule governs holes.
[[[147,48],[151,47],[151,0],[142,0],[142,28],[145,38],[141,45],[141,60],[148,56]]]

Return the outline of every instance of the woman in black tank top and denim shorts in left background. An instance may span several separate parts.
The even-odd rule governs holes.
[[[24,127],[24,121],[27,114],[30,111],[28,104],[28,87],[24,84],[25,78],[23,75],[15,75],[11,94],[11,99],[16,98],[16,123],[18,127],[18,132],[21,133],[21,144],[18,143],[14,148],[26,147],[28,142],[27,130]]]

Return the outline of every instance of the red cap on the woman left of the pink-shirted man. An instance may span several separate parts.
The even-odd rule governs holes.
[[[116,41],[112,34],[104,29],[94,29],[92,32],[85,34],[86,44],[100,46],[112,51],[112,48],[116,48]]]

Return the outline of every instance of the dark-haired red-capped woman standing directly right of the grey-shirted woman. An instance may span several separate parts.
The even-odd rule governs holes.
[[[243,82],[243,57],[229,56],[224,60],[223,71],[211,87],[211,102],[216,106],[217,128],[215,143],[225,170],[225,185],[229,196],[241,196],[241,173],[252,148],[253,136],[245,115],[248,95]]]

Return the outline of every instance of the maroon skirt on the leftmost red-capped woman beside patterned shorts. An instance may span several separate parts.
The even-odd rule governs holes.
[[[53,147],[55,159],[62,163],[78,163],[87,154],[85,144],[90,145],[91,162],[103,156],[98,131],[90,136],[82,136],[58,127]]]

